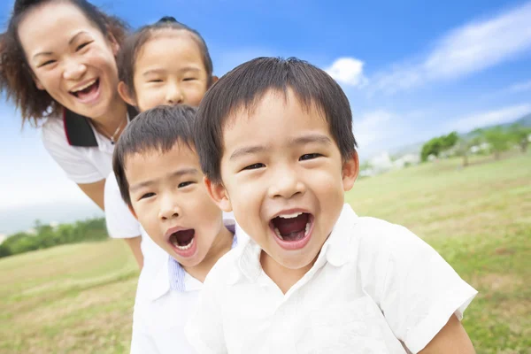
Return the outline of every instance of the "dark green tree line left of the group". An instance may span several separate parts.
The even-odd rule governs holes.
[[[32,232],[16,233],[0,244],[0,258],[30,250],[47,249],[59,244],[99,241],[106,238],[107,229],[104,218],[87,219],[73,224],[58,225],[58,227],[43,225],[36,220]]]

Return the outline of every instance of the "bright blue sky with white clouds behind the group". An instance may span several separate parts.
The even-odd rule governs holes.
[[[531,112],[531,2],[94,3],[134,28],[164,15],[196,28],[218,75],[258,56],[295,56],[326,69],[350,98],[362,158]],[[11,8],[0,0],[3,25]],[[89,204],[47,156],[38,131],[21,132],[19,121],[12,104],[0,103],[0,210]]]

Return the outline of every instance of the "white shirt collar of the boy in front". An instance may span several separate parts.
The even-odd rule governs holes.
[[[319,257],[315,261],[313,270],[317,270],[330,263],[332,266],[343,266],[352,255],[352,229],[358,222],[358,215],[352,210],[349,204],[344,204],[342,212],[335,223],[332,233],[328,236],[327,241],[323,244]],[[244,232],[240,231],[239,235]],[[242,247],[236,254],[236,266],[231,274],[228,276],[228,283],[235,284],[247,278],[249,281],[256,281],[258,275],[262,273],[262,266],[260,265],[260,246],[254,242],[250,236],[242,244]]]

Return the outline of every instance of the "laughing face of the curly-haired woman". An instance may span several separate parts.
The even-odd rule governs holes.
[[[119,46],[75,5],[35,7],[20,21],[19,38],[37,88],[68,110],[98,119],[119,100]]]

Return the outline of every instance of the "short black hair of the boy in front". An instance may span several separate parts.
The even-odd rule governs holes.
[[[242,108],[252,112],[272,89],[284,95],[290,89],[305,108],[317,107],[327,119],[344,160],[356,150],[349,100],[330,75],[297,58],[255,58],[221,77],[199,104],[196,150],[201,168],[211,181],[221,182],[223,128],[228,116]]]

